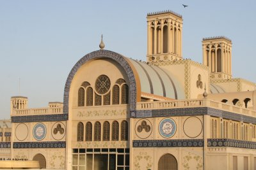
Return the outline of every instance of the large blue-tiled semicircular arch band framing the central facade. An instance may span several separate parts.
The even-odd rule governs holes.
[[[126,59],[123,55],[120,55],[118,53],[111,52],[108,50],[98,50],[98,51],[84,55],[84,57],[82,57],[75,64],[75,66],[72,68],[72,70],[68,74],[68,78],[67,78],[65,89],[64,89],[64,97],[63,97],[63,101],[64,101],[63,113],[64,114],[68,114],[70,87],[72,84],[72,80],[76,75],[77,71],[86,62],[94,59],[100,59],[100,58],[115,60],[118,64],[120,64],[120,66],[122,66],[130,84],[130,88],[129,88],[130,111],[132,112],[136,110],[136,102],[140,101],[140,89],[141,89],[140,80],[138,78],[138,73],[136,72],[136,69],[134,68],[134,66],[132,66],[131,62],[129,62],[129,60]]]

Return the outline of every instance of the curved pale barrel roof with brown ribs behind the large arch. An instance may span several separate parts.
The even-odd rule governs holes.
[[[185,99],[184,89],[169,71],[145,62],[129,59],[140,78],[141,92],[172,99]]]

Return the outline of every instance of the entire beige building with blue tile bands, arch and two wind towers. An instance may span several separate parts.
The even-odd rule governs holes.
[[[232,78],[232,41],[202,40],[182,57],[182,16],[148,13],[147,62],[84,55],[63,103],[12,97],[10,158],[46,169],[256,169],[256,84]],[[216,164],[218,162],[218,164]]]

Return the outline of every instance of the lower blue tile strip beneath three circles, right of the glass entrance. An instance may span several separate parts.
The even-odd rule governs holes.
[[[134,140],[132,147],[204,147],[204,139]]]

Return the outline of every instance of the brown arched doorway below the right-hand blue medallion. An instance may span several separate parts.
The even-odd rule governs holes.
[[[177,170],[177,160],[172,154],[164,154],[158,162],[158,170]]]

